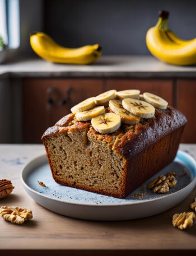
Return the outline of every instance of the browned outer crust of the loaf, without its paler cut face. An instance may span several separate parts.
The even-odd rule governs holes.
[[[118,131],[111,134],[100,134],[91,127],[90,122],[77,122],[74,115],[69,114],[60,119],[54,127],[48,128],[41,139],[46,149],[53,178],[57,183],[123,198],[174,159],[185,124],[184,115],[172,106],[168,106],[166,110],[156,110],[154,118],[142,119],[136,125],[123,124]],[[62,176],[59,178],[58,167],[54,164],[53,151],[49,145],[59,134],[63,134],[64,138],[69,138],[70,134],[76,132],[83,134],[81,135],[82,150],[85,151],[90,141],[93,141],[99,144],[99,147],[106,145],[111,155],[119,157],[119,161],[122,161],[122,175],[120,175],[116,190],[104,188],[101,185],[97,187],[97,184],[80,183],[80,180],[77,183],[71,182]]]

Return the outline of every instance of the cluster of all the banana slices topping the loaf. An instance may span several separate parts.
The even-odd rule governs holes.
[[[141,118],[152,118],[155,108],[166,109],[167,105],[167,101],[148,92],[141,95],[139,90],[110,90],[83,100],[71,111],[79,122],[91,120],[95,131],[105,134],[115,132],[122,123],[134,125]],[[105,106],[112,113],[106,113]]]

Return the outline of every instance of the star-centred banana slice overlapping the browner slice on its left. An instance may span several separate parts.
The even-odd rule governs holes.
[[[123,108],[127,109],[134,115],[139,115],[143,118],[152,118],[155,115],[155,108],[142,100],[124,99],[122,101]]]

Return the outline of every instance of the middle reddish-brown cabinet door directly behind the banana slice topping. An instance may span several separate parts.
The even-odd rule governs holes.
[[[172,80],[141,80],[141,79],[110,79],[106,82],[106,90],[118,91],[138,89],[143,92],[152,92],[163,97],[173,105],[173,82]]]

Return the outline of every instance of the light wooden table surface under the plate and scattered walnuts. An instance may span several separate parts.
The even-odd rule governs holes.
[[[184,144],[180,149],[196,159],[196,145]],[[162,250],[168,249],[173,254],[167,255],[183,255],[183,250],[196,250],[196,224],[186,231],[171,224],[174,213],[189,210],[196,188],[178,206],[156,216],[119,222],[77,220],[46,210],[22,188],[21,170],[44,152],[42,145],[0,145],[0,179],[10,179],[15,185],[0,205],[30,208],[34,215],[24,225],[0,219],[0,254],[13,249],[15,255],[34,255],[27,252],[30,249],[36,250],[36,255],[43,254],[43,249],[48,255],[57,249],[66,255],[162,255]]]

